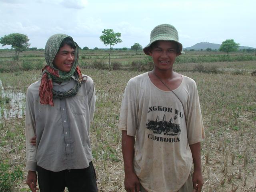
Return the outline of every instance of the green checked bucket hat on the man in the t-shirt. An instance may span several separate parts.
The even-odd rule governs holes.
[[[180,54],[184,54],[182,51],[182,44],[179,42],[179,35],[176,28],[170,24],[161,24],[156,26],[150,33],[150,43],[144,47],[143,51],[149,55],[150,45],[158,40],[174,41],[178,44]]]

